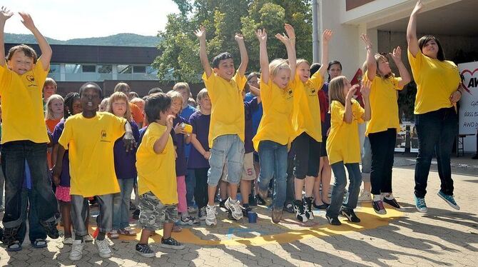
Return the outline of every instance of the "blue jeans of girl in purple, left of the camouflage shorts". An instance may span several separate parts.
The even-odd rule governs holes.
[[[113,229],[129,226],[129,201],[133,191],[134,178],[118,179],[120,193],[113,194]]]

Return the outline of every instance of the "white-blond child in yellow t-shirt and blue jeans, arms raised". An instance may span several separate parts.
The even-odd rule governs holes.
[[[291,39],[295,36],[292,26],[285,24],[287,36],[275,36],[285,44],[289,62],[274,59],[269,64],[265,30],[258,30],[260,69],[260,98],[263,103],[263,119],[260,120],[258,133],[253,138],[255,151],[259,153],[260,173],[258,194],[267,197],[269,181],[273,177],[272,220],[278,223],[282,218],[285,203],[285,191],[288,167],[288,145],[292,136],[291,115],[293,109],[293,86],[290,77],[295,74],[295,47]]]

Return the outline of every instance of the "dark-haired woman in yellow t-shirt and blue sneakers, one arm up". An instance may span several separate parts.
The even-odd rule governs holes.
[[[457,136],[458,117],[454,105],[462,97],[457,65],[446,61],[438,39],[423,36],[417,39],[417,14],[422,9],[417,1],[407,27],[408,60],[417,83],[415,126],[418,134],[418,156],[415,166],[415,206],[427,212],[425,194],[432,157],[436,153],[441,189],[438,196],[459,210],[453,198],[450,154]]]

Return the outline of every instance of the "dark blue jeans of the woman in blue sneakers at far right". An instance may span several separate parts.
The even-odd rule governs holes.
[[[437,155],[441,191],[453,195],[450,155],[458,131],[458,116],[454,108],[439,109],[415,116],[418,134],[418,156],[415,165],[415,196],[424,198],[432,158]]]

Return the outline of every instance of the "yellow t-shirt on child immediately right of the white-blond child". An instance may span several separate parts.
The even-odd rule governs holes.
[[[317,71],[305,83],[295,75],[294,109],[292,115],[293,139],[305,132],[317,142],[322,142],[320,105],[317,92],[322,89],[324,81]]]

